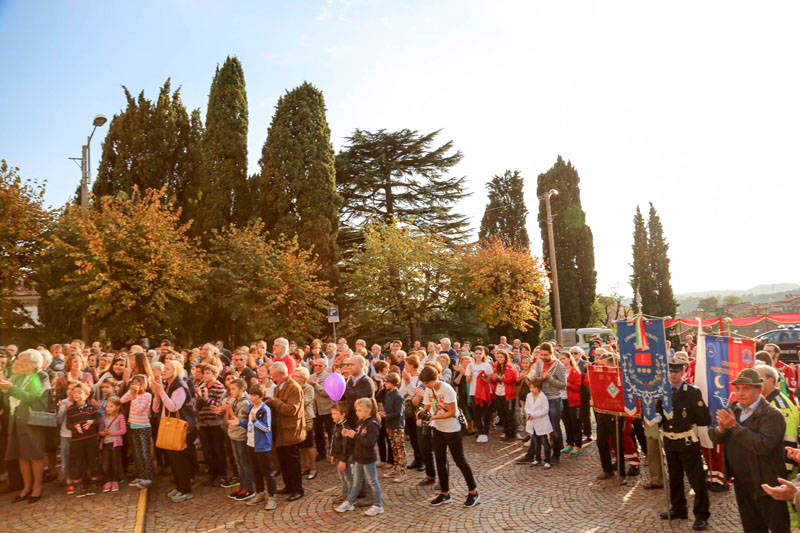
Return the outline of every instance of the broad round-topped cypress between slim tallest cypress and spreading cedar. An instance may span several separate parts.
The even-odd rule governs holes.
[[[287,91],[272,117],[256,179],[268,234],[297,235],[301,247],[313,247],[320,276],[335,285],[341,198],[330,138],[322,93],[308,82]]]

